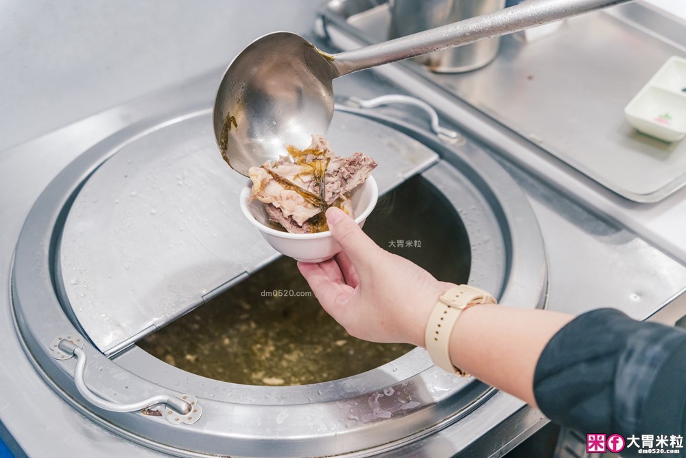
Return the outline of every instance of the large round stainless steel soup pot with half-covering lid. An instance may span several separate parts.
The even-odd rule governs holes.
[[[434,367],[423,349],[335,380],[254,386],[193,374],[135,344],[278,256],[238,217],[245,179],[214,148],[211,112],[195,97],[206,91],[179,92],[137,105],[145,117],[80,154],[27,216],[12,303],[43,381],[93,424],[182,457],[395,457],[416,455],[419,442],[427,456],[451,456],[462,447],[445,439],[447,429],[459,424],[460,437],[480,437],[470,426],[496,420],[472,423],[471,412],[499,393]],[[327,134],[335,151],[373,151],[379,161],[375,179],[389,198],[375,209],[377,223],[388,228],[384,212],[395,201],[403,224],[379,231],[378,242],[420,240],[401,253],[440,257],[446,279],[467,276],[457,262],[467,256],[469,284],[510,306],[543,306],[543,240],[517,184],[475,144],[459,146],[407,119],[341,106]],[[283,288],[278,282],[258,289]],[[241,297],[259,312],[259,292]],[[191,337],[206,332],[197,321],[188,329]],[[76,358],[62,353],[64,340],[82,345]],[[180,415],[182,406],[168,401],[121,410],[160,396],[185,400],[191,412]],[[43,415],[59,421],[65,411]]]

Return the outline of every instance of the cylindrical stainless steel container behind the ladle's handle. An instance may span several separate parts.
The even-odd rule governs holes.
[[[440,25],[502,10],[505,0],[389,0],[388,38],[398,38]],[[456,73],[478,69],[498,54],[500,38],[489,38],[452,49],[414,58],[438,73]]]

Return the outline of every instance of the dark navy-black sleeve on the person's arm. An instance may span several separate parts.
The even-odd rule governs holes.
[[[534,396],[547,417],[582,435],[683,437],[686,332],[619,310],[582,314],[543,350]]]

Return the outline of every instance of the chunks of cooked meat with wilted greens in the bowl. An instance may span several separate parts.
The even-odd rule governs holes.
[[[316,233],[329,230],[324,216],[329,207],[354,218],[350,193],[364,183],[377,162],[362,152],[336,156],[320,135],[314,135],[305,150],[286,149],[287,157],[248,171],[251,198],[265,205],[270,221],[288,232]]]

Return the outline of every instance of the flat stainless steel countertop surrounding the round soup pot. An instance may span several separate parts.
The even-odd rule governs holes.
[[[209,88],[214,79],[210,77],[205,81],[202,87]],[[373,73],[349,77],[340,90],[341,93],[363,97],[382,90],[397,91]],[[5,285],[9,283],[11,253],[21,224],[40,191],[79,151],[119,130],[124,124],[134,122],[139,113],[138,103],[144,102],[84,119],[3,153],[0,208],[3,215],[11,216],[0,238],[0,253],[3,254],[0,277],[7,282]],[[72,148],[74,153],[51,154],[54,150],[64,151],[65,146]],[[473,147],[473,142],[468,141],[464,154],[469,154],[469,148]],[[686,285],[684,266],[632,233],[589,214],[552,188],[532,180],[511,165],[507,166],[530,198],[547,244],[551,264],[549,308],[578,313],[611,304],[634,317],[645,318],[669,301],[671,294],[683,290]],[[569,247],[575,247],[572,253]],[[624,262],[627,259],[632,262]],[[652,275],[646,277],[635,266],[652,271]],[[601,279],[602,285],[599,284]],[[585,290],[585,295],[575,290],[580,284],[591,286]],[[0,419],[29,455],[44,456],[55,450],[55,444],[60,444],[59,450],[64,455],[91,452],[96,456],[119,456],[131,452],[136,456],[155,456],[149,450],[138,448],[91,424],[43,383],[23,354],[19,341],[14,338],[8,299],[9,293],[5,290],[3,299],[0,299],[0,331],[12,338],[0,341],[0,354],[3,354],[0,387],[10,396],[7,398],[9,401],[0,406]],[[44,412],[58,415],[60,427],[45,419]],[[40,426],[44,431],[44,439],[40,442],[32,440],[38,421],[43,422]],[[403,451],[411,455],[421,447],[421,453],[427,453],[427,456],[440,456],[445,455],[446,450],[458,452],[473,446],[480,437],[488,437],[479,444],[479,455],[490,456],[490,453],[504,453],[545,422],[539,411],[524,407],[523,402],[505,393],[497,393],[458,424]],[[519,439],[500,434],[503,428],[520,431]]]

